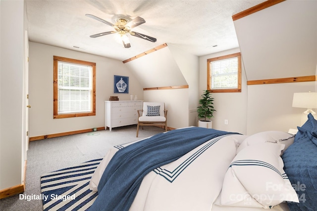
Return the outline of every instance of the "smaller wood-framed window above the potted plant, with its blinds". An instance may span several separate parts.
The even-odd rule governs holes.
[[[207,59],[207,89],[241,92],[241,53]]]

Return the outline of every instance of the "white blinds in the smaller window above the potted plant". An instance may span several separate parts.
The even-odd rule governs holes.
[[[211,89],[238,88],[238,57],[210,62]]]

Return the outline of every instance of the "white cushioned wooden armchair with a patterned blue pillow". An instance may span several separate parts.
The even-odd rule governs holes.
[[[138,110],[137,137],[139,126],[164,126],[167,131],[167,110],[164,103],[143,102],[142,110]]]

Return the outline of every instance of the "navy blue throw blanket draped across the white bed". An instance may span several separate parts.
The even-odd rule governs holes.
[[[119,150],[104,171],[98,185],[98,198],[90,210],[129,210],[146,174],[226,134],[237,133],[190,127],[157,134]]]

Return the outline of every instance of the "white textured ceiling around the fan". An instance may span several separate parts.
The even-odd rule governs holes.
[[[26,0],[26,28],[32,42],[125,60],[163,43],[201,56],[238,47],[231,16],[264,0]],[[111,26],[140,16],[146,23],[132,31],[157,38],[152,43],[129,35],[131,48],[115,41]],[[74,48],[79,47],[79,48]],[[212,47],[217,46],[217,47]]]

